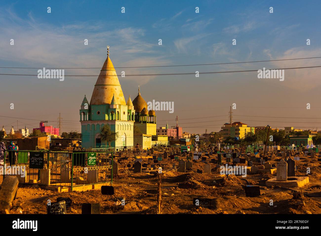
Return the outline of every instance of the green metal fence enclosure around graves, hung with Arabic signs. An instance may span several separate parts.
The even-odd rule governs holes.
[[[70,187],[72,191],[77,186],[112,184],[113,158],[113,151],[5,151],[4,167],[24,168],[26,175],[17,175],[20,183]]]

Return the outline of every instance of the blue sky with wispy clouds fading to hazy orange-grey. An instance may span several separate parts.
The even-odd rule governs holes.
[[[258,78],[257,70],[321,66],[321,58],[253,61],[321,57],[320,6],[320,1],[0,1],[0,67],[33,68],[0,68],[0,74],[80,67],[65,69],[65,75],[97,75],[64,81],[0,75],[0,126],[16,130],[18,120],[18,128],[32,130],[48,120],[57,127],[61,113],[62,132],[80,131],[82,99],[91,98],[109,45],[115,67],[143,67],[116,68],[117,74],[192,73],[118,76],[126,101],[137,96],[139,85],[146,102],[174,102],[173,113],[156,111],[157,127],[166,121],[176,125],[178,116],[183,131],[219,131],[235,104],[233,122],[315,130],[321,127],[321,67],[287,69],[284,81]],[[251,63],[199,65],[235,62]],[[243,70],[254,71],[195,76]]]

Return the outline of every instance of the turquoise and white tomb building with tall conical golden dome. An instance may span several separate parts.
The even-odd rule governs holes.
[[[82,147],[105,145],[100,139],[100,130],[105,125],[118,132],[118,138],[110,144],[111,147],[134,146],[135,109],[129,101],[130,98],[127,103],[125,101],[108,48],[90,103],[85,96],[79,110]]]

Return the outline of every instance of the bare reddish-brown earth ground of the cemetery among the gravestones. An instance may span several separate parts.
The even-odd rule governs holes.
[[[295,197],[285,188],[265,186],[265,181],[275,178],[272,174],[247,174],[222,176],[217,163],[211,163],[217,154],[208,158],[212,173],[204,173],[204,162],[192,161],[193,167],[186,173],[178,172],[178,160],[163,159],[158,163],[143,157],[142,172],[134,173],[134,158],[118,158],[118,175],[113,178],[115,194],[102,195],[99,190],[58,193],[51,190],[19,185],[10,214],[47,214],[47,200],[56,202],[57,197],[69,197],[71,209],[67,214],[81,214],[83,203],[100,203],[101,214],[155,214],[157,212],[158,167],[162,167],[162,213],[163,214],[321,214],[321,162],[315,158],[298,154],[296,176],[307,176],[309,183],[302,188],[291,188],[302,192],[304,197]],[[149,156],[152,158],[152,156]],[[181,157],[179,157],[181,158]],[[276,164],[282,157],[274,154],[269,160]],[[293,157],[292,157],[293,158]],[[184,157],[186,160],[186,157]],[[223,165],[225,163],[223,162]],[[154,169],[149,168],[155,165]],[[197,173],[203,170],[203,173]],[[0,182],[2,179],[0,179]],[[0,183],[1,184],[1,183]],[[244,185],[259,185],[261,195],[246,197]],[[308,194],[308,196],[306,195]],[[316,196],[316,197],[313,197]],[[212,198],[213,205],[194,206],[193,198]],[[122,205],[122,200],[125,205]],[[273,200],[273,205],[271,201]]]

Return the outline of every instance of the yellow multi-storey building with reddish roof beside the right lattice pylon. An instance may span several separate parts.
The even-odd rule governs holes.
[[[225,123],[220,130],[220,133],[223,134],[223,137],[226,138],[231,136],[232,138],[244,138],[247,132],[255,133],[255,127],[248,127],[247,124],[242,122],[234,122],[232,124]]]

